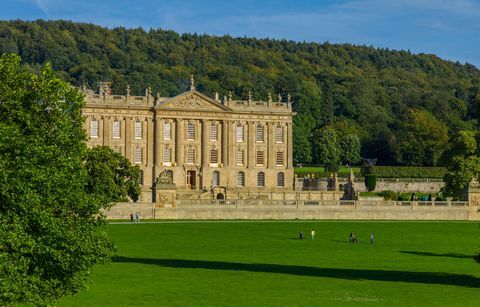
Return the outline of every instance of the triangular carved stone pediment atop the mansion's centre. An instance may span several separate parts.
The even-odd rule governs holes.
[[[231,109],[197,91],[189,91],[169,98],[156,106],[158,109],[230,111]]]

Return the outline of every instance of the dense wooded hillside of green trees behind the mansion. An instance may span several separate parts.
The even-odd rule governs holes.
[[[50,62],[75,86],[111,81],[118,94],[173,96],[191,74],[207,95],[290,94],[296,164],[442,166],[449,137],[479,124],[480,70],[408,50],[17,20],[0,21],[0,52],[33,69]]]

